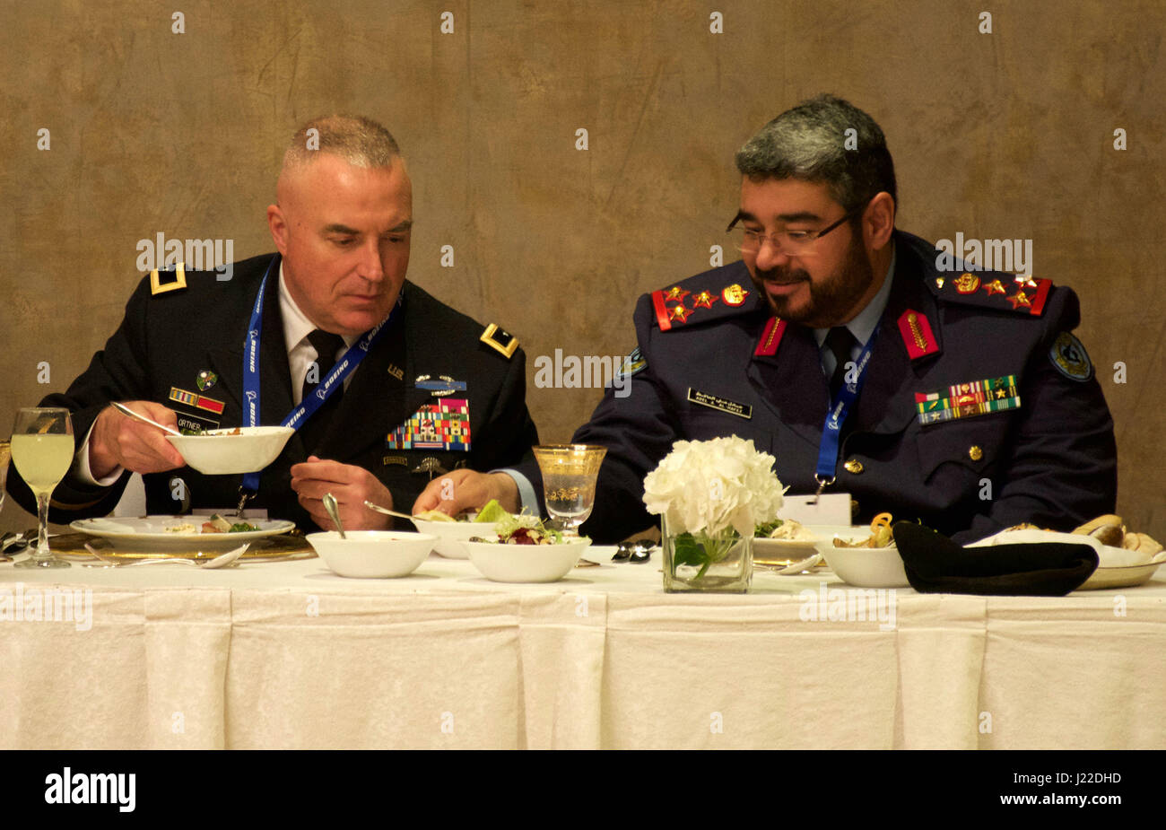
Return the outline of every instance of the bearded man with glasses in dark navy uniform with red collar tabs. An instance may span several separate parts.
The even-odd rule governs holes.
[[[883,133],[840,99],[774,119],[737,166],[742,261],[640,297],[631,394],[609,388],[573,438],[607,448],[583,533],[648,527],[645,474],[674,441],[724,435],[773,453],[792,493],[849,492],[858,522],[888,511],[971,541],[1112,512],[1112,420],[1072,290],[895,231]],[[535,465],[515,474],[541,490]]]

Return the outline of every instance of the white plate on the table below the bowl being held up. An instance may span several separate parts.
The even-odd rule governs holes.
[[[226,516],[224,516],[226,518]],[[264,536],[276,536],[295,528],[295,522],[283,519],[244,519],[258,530],[245,533],[169,533],[176,525],[201,528],[210,516],[145,516],[141,519],[82,519],[69,527],[91,536],[107,539],[114,550],[146,550],[153,553],[182,553],[198,550],[230,550],[244,542]],[[231,521],[231,519],[227,519]],[[233,523],[233,522],[232,522]]]

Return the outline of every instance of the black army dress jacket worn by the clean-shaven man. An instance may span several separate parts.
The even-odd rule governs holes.
[[[279,305],[279,263],[273,254],[239,262],[231,280],[215,272],[187,273],[187,287],[152,294],[139,284],[120,328],[64,394],[41,406],[72,412],[78,445],[110,401],[149,400],[178,414],[180,427],[230,428],[244,421],[244,344],[264,274],[271,267],[260,347],[260,424],[279,424],[293,408],[290,370]],[[160,281],[174,277],[162,274]],[[250,507],[315,522],[290,487],[290,467],[309,455],[373,472],[409,512],[430,480],[427,466],[492,470],[519,463],[538,443],[526,407],[526,357],[505,332],[493,333],[406,281],[388,329],[350,375],[318,445],[300,431],[260,476]],[[485,340],[483,336],[485,335]],[[508,354],[506,352],[510,352]],[[427,462],[426,459],[435,459]],[[422,470],[417,470],[422,467]],[[35,512],[35,500],[13,470],[9,488]],[[94,488],[71,477],[54,491],[52,521],[105,515],[129,473]],[[204,476],[190,467],[143,476],[150,514],[231,508],[243,476]],[[181,480],[182,485],[178,486]]]

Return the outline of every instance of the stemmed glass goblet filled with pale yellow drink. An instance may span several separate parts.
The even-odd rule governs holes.
[[[14,568],[69,568],[49,550],[49,497],[73,459],[72,420],[68,409],[29,408],[16,413],[12,463],[36,497],[36,550]]]

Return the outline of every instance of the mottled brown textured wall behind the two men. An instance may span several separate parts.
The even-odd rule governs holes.
[[[40,361],[62,388],[101,346],[139,239],[272,249],[281,147],[312,115],[366,113],[396,135],[413,280],[532,358],[614,354],[635,296],[703,270],[724,241],[733,150],[831,91],[886,132],[900,227],[1031,238],[1035,275],[1077,290],[1117,423],[1119,508],[1166,536],[1163,6],[0,0],[0,420],[48,391]],[[529,403],[543,439],[563,439],[598,398],[532,389]],[[28,523],[10,502],[0,516]]]

